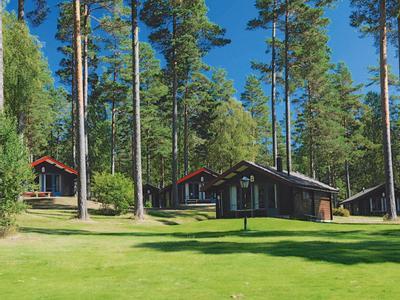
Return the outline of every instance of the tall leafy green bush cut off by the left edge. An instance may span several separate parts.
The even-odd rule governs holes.
[[[15,122],[0,112],[0,235],[15,229],[16,215],[24,209],[20,195],[30,189],[33,179]]]

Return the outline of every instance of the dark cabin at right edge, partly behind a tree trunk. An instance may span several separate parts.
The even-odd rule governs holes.
[[[397,211],[400,208],[400,190],[395,188]],[[383,216],[387,213],[388,205],[385,197],[385,184],[380,184],[342,201],[339,205],[355,216]]]

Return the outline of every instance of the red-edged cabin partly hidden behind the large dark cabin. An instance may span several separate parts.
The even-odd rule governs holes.
[[[181,205],[193,203],[214,203],[211,191],[203,191],[204,186],[216,178],[218,173],[200,168],[178,180],[178,199]],[[160,191],[161,207],[172,207],[172,184]]]

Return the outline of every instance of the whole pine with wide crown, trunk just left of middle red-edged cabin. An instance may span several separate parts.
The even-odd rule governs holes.
[[[201,66],[201,58],[212,46],[229,42],[225,31],[207,18],[204,0],[147,0],[141,19],[153,29],[149,36],[167,61],[172,99],[172,199],[178,206],[178,98],[190,74]]]

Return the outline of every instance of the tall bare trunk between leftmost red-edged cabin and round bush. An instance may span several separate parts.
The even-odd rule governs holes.
[[[88,219],[87,197],[86,197],[86,146],[85,146],[85,107],[83,100],[82,80],[82,45],[81,45],[81,13],[80,1],[74,0],[74,49],[75,49],[75,78],[78,96],[79,115],[79,218]]]

